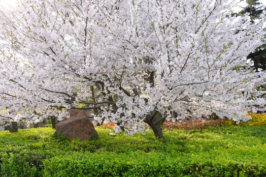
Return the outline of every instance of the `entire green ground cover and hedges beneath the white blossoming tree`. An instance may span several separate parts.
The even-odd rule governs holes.
[[[110,135],[80,142],[52,128],[0,132],[1,177],[265,176],[266,126],[164,129],[165,138]]]

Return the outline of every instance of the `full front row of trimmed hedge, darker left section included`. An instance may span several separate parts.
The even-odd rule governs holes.
[[[9,156],[9,157],[8,157]],[[1,153],[1,177],[265,177],[266,164],[164,153]],[[209,157],[209,156],[207,156]],[[42,160],[42,161],[40,161]]]

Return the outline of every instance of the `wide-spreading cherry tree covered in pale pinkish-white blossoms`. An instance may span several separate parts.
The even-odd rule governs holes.
[[[163,137],[180,119],[215,112],[248,120],[264,106],[265,73],[246,56],[263,44],[265,13],[228,15],[228,0],[19,0],[1,10],[0,121],[95,119]],[[87,105],[77,108],[78,104]],[[190,110],[188,112],[188,110]],[[145,122],[145,123],[143,123]]]

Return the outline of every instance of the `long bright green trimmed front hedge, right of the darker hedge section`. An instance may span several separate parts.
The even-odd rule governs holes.
[[[265,177],[266,164],[163,153],[74,153],[44,162],[45,177]]]

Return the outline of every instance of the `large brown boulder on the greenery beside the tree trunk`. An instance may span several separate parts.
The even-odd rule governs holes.
[[[80,110],[69,110],[69,118],[55,125],[56,135],[63,135],[67,139],[79,138],[80,141],[97,138],[98,134],[90,118]]]

